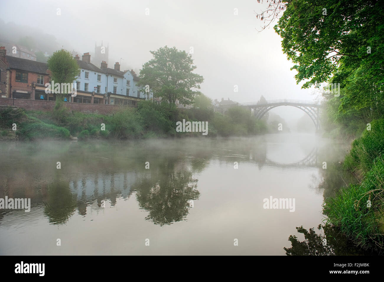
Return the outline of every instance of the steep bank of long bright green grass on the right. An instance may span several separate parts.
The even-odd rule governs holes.
[[[360,184],[341,189],[324,201],[326,224],[340,230],[358,246],[384,252],[384,119],[372,121],[371,130],[353,141],[343,168]]]

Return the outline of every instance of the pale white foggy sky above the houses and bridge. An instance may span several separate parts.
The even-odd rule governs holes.
[[[266,5],[256,0],[12,0],[2,2],[0,18],[40,28],[80,56],[93,53],[95,41],[100,45],[103,40],[109,43],[108,66],[123,58],[122,70],[140,69],[152,58],[150,50],[167,45],[189,51],[192,46],[195,72],[205,80],[201,90],[212,99],[245,103],[263,95],[267,100],[314,100],[313,90],[296,85],[296,71],[290,71],[293,64],[281,51],[273,25],[257,32],[263,23],[255,11]],[[287,120],[303,115],[293,107],[272,111]]]

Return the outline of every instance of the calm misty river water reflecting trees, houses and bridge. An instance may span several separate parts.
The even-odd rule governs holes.
[[[347,147],[315,134],[2,142],[0,198],[31,209],[0,210],[0,254],[285,255],[353,181]],[[266,209],[270,197],[294,209]]]

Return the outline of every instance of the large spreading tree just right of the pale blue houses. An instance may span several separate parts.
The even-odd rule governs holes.
[[[139,86],[149,85],[154,96],[161,97],[174,105],[189,105],[200,93],[200,83],[204,81],[201,75],[192,73],[192,55],[167,46],[151,51],[153,59],[142,66]]]

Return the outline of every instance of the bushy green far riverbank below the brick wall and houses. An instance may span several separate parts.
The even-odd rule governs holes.
[[[121,107],[110,115],[71,111],[63,103],[53,111],[25,111],[6,108],[0,112],[0,130],[17,124],[19,140],[68,139],[136,139],[201,136],[201,132],[176,132],[176,121],[207,121],[208,136],[249,136],[267,131],[264,121],[250,111],[234,107],[225,115],[213,108],[178,109],[167,103],[157,105],[142,101],[137,108]]]

